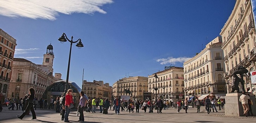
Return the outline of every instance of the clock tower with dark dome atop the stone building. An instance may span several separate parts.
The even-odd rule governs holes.
[[[53,46],[50,44],[46,48],[46,53],[44,54],[44,59],[43,59],[43,67],[46,72],[53,72],[53,59],[54,59],[54,53],[53,53]]]

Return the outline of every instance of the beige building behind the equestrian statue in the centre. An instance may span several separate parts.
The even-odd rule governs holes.
[[[148,78],[136,76],[119,79],[113,84],[113,96],[128,95],[124,89],[132,92],[133,100],[143,100],[143,92],[148,92]]]

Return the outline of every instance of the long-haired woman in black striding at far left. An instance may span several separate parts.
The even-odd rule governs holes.
[[[23,119],[23,117],[29,113],[31,111],[32,113],[32,119],[36,119],[36,112],[34,111],[34,98],[35,98],[35,90],[34,88],[29,88],[28,89],[28,97],[26,99],[26,103],[28,104],[25,111],[23,112],[23,114],[21,116],[19,116],[18,118]]]

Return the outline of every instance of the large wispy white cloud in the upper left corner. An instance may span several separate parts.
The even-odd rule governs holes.
[[[113,0],[0,0],[0,15],[56,20],[58,13],[107,13],[100,6]]]

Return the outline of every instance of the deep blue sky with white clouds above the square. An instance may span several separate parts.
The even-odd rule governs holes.
[[[152,75],[183,63],[219,36],[236,0],[0,0],[0,28],[17,40],[14,58],[43,63],[51,43],[53,73],[69,81]],[[206,38],[207,37],[207,38]],[[84,75],[83,75],[84,69]]]

